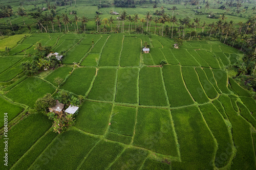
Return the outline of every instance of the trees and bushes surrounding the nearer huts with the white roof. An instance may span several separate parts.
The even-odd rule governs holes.
[[[78,106],[81,105],[81,102],[84,100],[82,95],[79,95],[78,98],[73,96],[70,92],[62,90],[59,91],[56,99],[65,105],[64,109],[68,108],[69,105]],[[35,102],[35,109],[38,112],[42,112],[48,116],[49,119],[53,120],[53,131],[56,133],[64,132],[68,127],[71,127],[75,124],[75,115],[77,113],[68,114],[63,112],[53,113],[49,112],[48,108],[51,108],[56,105],[56,99],[50,93],[44,95],[44,97],[37,99]]]

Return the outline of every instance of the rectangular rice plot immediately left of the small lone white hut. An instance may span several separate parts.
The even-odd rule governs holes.
[[[120,56],[120,66],[139,66],[141,55],[141,40],[125,37]]]

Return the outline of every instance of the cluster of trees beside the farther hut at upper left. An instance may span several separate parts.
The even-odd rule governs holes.
[[[41,43],[37,42],[35,49],[36,55],[33,57],[32,61],[24,61],[20,63],[27,76],[34,76],[42,70],[56,68],[59,66],[60,62],[54,55],[47,58],[47,55],[51,52],[51,46],[42,46]]]

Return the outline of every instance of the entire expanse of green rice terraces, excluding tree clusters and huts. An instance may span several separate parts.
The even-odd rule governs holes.
[[[32,61],[37,42],[66,56],[26,76],[20,63]],[[122,33],[14,35],[0,50],[6,43],[0,126],[4,113],[12,126],[8,166],[0,138],[0,169],[256,169],[256,103],[225,69],[242,60],[236,48],[203,40],[175,49],[174,39]],[[85,99],[58,134],[33,108],[60,90]]]

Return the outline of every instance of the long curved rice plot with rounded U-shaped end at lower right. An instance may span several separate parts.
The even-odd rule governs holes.
[[[212,104],[199,107],[210,131],[218,142],[218,150],[215,156],[215,165],[224,167],[232,158],[233,145],[231,134],[218,110]],[[218,124],[217,124],[218,123]],[[228,152],[227,152],[228,151]],[[224,156],[225,155],[225,156]]]

